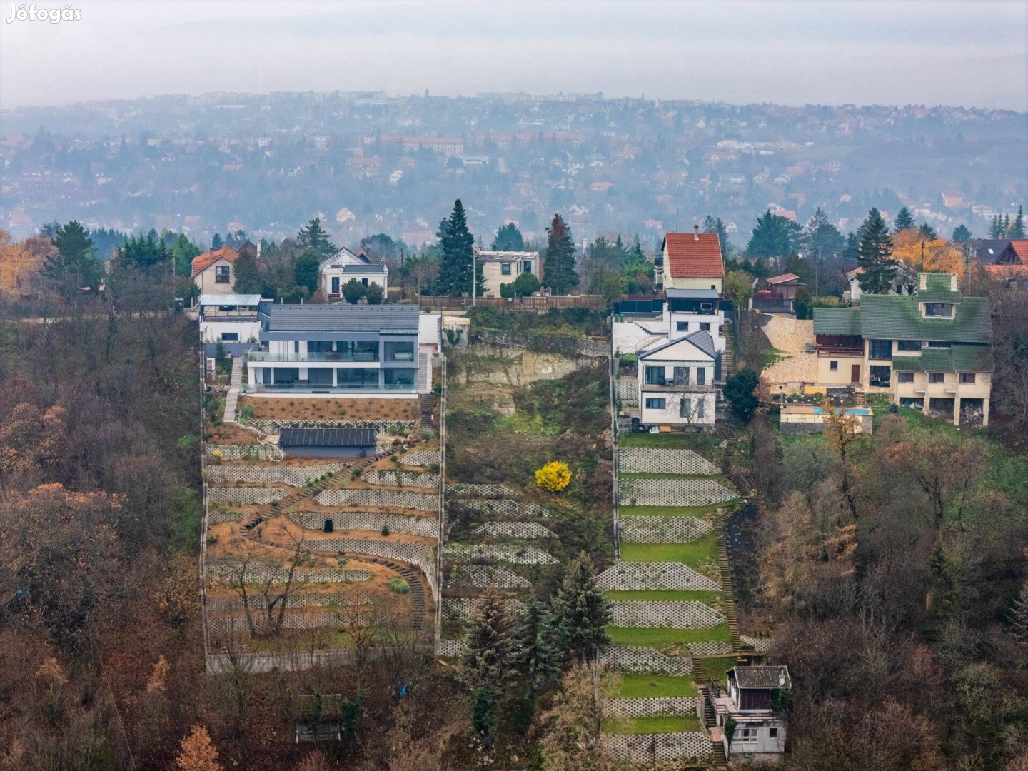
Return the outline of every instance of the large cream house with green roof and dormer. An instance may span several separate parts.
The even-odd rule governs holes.
[[[989,301],[963,295],[956,276],[918,273],[913,294],[814,308],[814,337],[819,386],[886,394],[956,426],[989,425]]]

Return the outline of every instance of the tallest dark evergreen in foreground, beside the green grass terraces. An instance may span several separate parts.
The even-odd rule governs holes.
[[[596,573],[585,552],[567,566],[553,599],[553,618],[560,650],[583,663],[611,644],[607,633],[613,604],[596,585]]]

